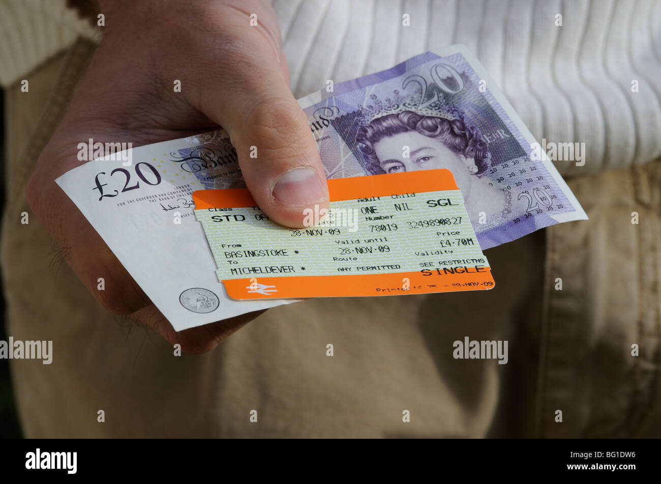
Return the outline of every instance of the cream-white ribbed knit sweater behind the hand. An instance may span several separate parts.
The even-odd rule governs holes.
[[[661,1],[274,0],[296,97],[461,43],[533,135],[586,143],[565,175],[661,156]],[[402,17],[410,16],[410,26]],[[562,26],[556,26],[561,14]],[[63,0],[0,0],[0,84],[98,32]],[[98,29],[97,29],[98,30]],[[633,92],[637,83],[638,92]]]

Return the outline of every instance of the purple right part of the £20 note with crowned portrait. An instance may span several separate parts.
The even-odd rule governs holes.
[[[299,104],[327,178],[449,169],[483,250],[588,218],[464,46],[416,55]]]

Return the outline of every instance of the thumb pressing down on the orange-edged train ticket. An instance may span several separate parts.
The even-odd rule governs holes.
[[[327,209],[329,192],[307,116],[290,91],[280,60],[242,67],[241,88],[220,88],[204,114],[225,128],[246,185],[260,209],[281,225],[301,227],[305,209]],[[250,73],[249,76],[246,73]],[[316,207],[315,207],[316,205]]]

